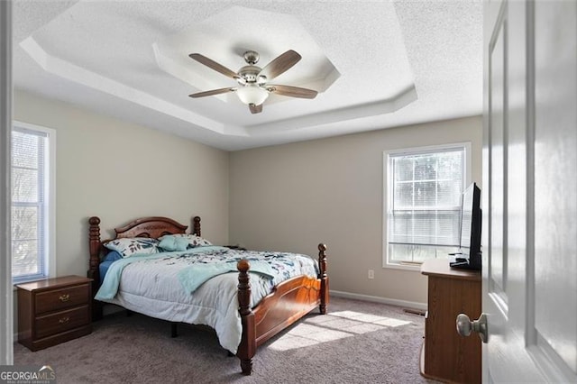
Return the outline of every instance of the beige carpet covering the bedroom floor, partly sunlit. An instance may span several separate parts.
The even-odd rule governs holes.
[[[432,383],[419,374],[425,319],[398,306],[331,297],[257,349],[252,376],[211,330],[124,312],[92,334],[39,352],[14,343],[14,365],[50,365],[66,383]]]

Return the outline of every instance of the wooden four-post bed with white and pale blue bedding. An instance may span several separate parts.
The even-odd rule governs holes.
[[[197,247],[195,243],[192,249],[189,242],[186,250],[169,248],[166,254],[154,254],[151,255],[153,257],[149,257],[139,253],[130,258],[121,257],[122,260],[109,262],[114,248],[112,245],[120,242],[131,242],[134,239],[146,241],[145,238],[148,238],[155,239],[154,243],[160,241],[164,243],[170,239],[174,245],[179,243],[179,238],[186,238],[188,241],[191,238],[203,239],[199,216],[193,218],[190,233],[187,233],[188,225],[179,224],[168,217],[151,216],[114,228],[115,236],[108,240],[100,238],[98,217],[90,217],[88,224],[90,259],[87,274],[89,278],[94,279],[93,292],[96,292],[96,297],[99,298],[93,301],[95,320],[102,318],[104,304],[112,303],[143,315],[168,320],[173,325],[178,323],[209,325],[215,329],[221,345],[240,359],[243,374],[250,375],[252,358],[258,346],[316,307],[321,314],[326,313],[329,298],[326,246],[323,243],[317,247],[318,260],[314,261],[314,273],[311,273],[308,261],[305,262],[303,258],[305,255],[295,254],[295,257],[298,256],[296,261],[289,262],[296,266],[295,270],[291,271],[292,274],[283,270],[285,276],[280,279],[279,275],[273,277],[271,272],[278,272],[279,269],[284,269],[284,266],[275,265],[271,270],[270,266],[267,267],[262,262],[265,259],[270,260],[270,253],[219,247],[214,244]],[[272,257],[275,262],[283,261],[288,255],[287,252],[274,253]],[[278,256],[277,253],[282,255]],[[229,259],[225,263],[208,265],[208,261],[221,256]],[[263,257],[265,259],[261,259]],[[202,262],[197,262],[199,258]],[[178,272],[173,271],[176,268],[173,264],[179,262],[188,266]],[[227,266],[229,273],[222,271],[224,265]],[[230,268],[231,265],[234,265],[234,273],[230,273],[233,270]],[[145,270],[146,268],[149,270]],[[307,270],[307,273],[298,272],[298,268]],[[213,269],[218,270],[215,276],[207,278],[206,270]],[[103,273],[106,276],[101,279]],[[203,279],[207,279],[206,282],[190,288],[188,278],[196,280],[196,277],[201,275]],[[116,285],[114,279],[118,279]],[[164,292],[165,288],[176,289],[177,280],[180,282],[180,288],[184,286],[192,290],[181,289],[178,293]],[[152,286],[154,288],[151,288]],[[219,289],[222,291],[215,295]],[[165,300],[166,297],[169,299]],[[201,300],[201,302],[197,304],[196,301],[188,300]],[[196,323],[198,314],[194,308],[209,306],[206,304],[209,300],[215,302],[224,300],[224,304],[215,303],[215,309],[207,316],[201,314],[201,320]],[[224,313],[227,315],[223,315]],[[173,333],[174,329],[173,327]],[[230,331],[231,329],[237,329],[238,334]],[[230,334],[226,335],[227,332]],[[234,347],[236,341],[238,344]]]

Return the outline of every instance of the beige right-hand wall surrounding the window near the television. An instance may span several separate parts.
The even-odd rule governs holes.
[[[450,142],[472,142],[481,183],[480,116],[232,152],[230,241],[307,254],[326,242],[331,290],[426,303],[418,271],[382,268],[383,151]]]

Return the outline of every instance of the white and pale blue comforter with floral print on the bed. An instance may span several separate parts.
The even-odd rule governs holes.
[[[262,297],[267,296],[271,288],[280,280],[298,275],[316,277],[318,273],[316,261],[306,255],[214,248],[220,249],[200,257],[195,253],[189,257],[181,255],[143,259],[126,265],[122,270],[122,278],[115,297],[101,298],[96,294],[96,299],[164,320],[209,325],[215,329],[219,343],[228,351],[236,353],[242,336],[237,298],[238,273],[215,276],[200,285],[192,294],[188,294],[179,281],[180,270],[188,267],[191,262],[194,263],[203,258],[215,259],[215,252],[218,253],[216,256],[219,259],[226,257],[229,261],[241,258],[249,261],[270,261],[272,269],[278,272],[274,279],[259,274],[250,274],[252,306],[259,303]],[[170,253],[172,256],[175,252]],[[293,261],[279,262],[289,260],[287,258]],[[289,268],[287,264],[291,264]],[[108,275],[109,272],[106,273],[105,279],[109,277]]]

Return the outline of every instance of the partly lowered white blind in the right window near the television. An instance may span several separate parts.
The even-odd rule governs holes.
[[[458,246],[464,149],[389,155],[389,244]]]

